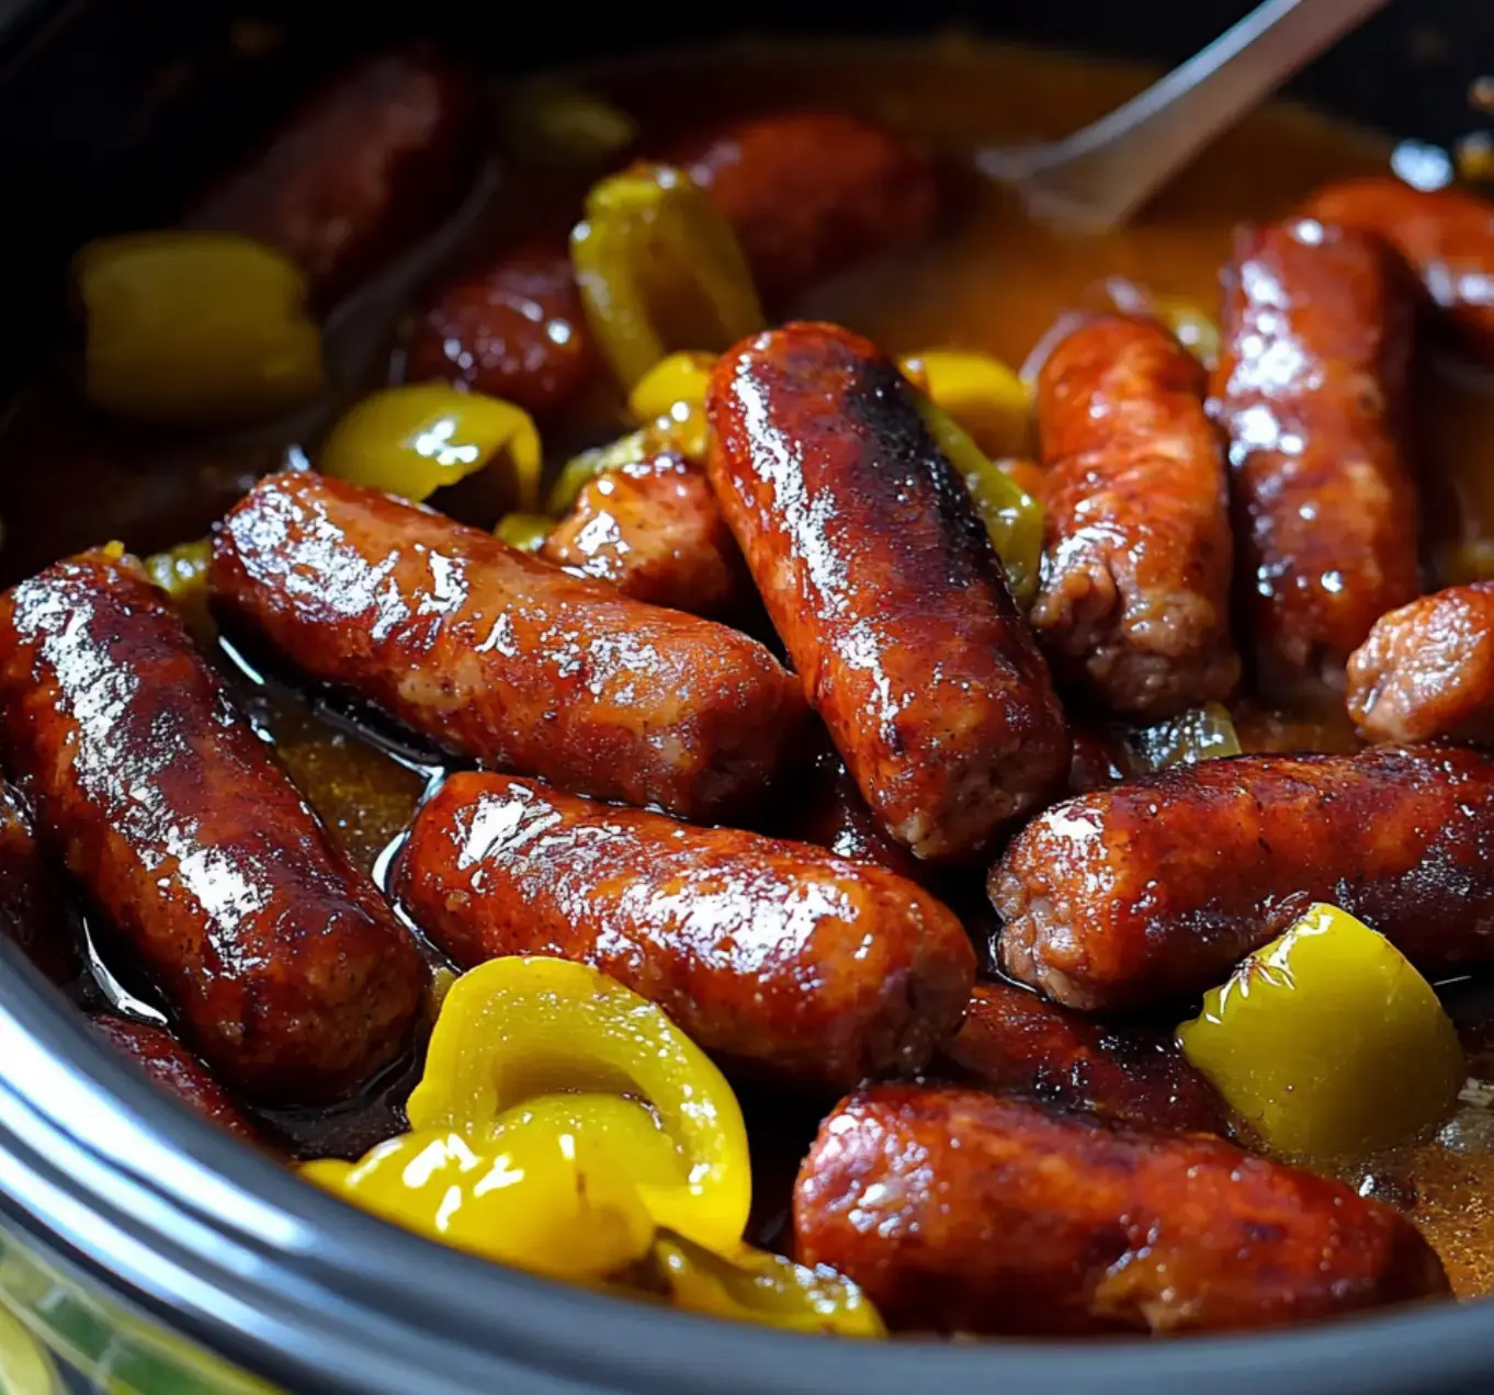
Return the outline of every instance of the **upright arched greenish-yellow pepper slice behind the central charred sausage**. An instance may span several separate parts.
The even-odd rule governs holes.
[[[731,224],[666,164],[635,164],[592,187],[571,261],[587,323],[624,388],[669,352],[671,333],[725,349],[765,324]]]

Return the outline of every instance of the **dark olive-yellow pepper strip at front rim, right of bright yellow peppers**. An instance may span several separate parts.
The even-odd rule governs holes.
[[[687,1313],[793,1332],[887,1335],[871,1299],[832,1270],[810,1270],[746,1244],[717,1255],[668,1231],[660,1232],[653,1253],[674,1305]]]

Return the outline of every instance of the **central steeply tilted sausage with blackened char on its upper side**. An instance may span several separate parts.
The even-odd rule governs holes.
[[[1047,666],[964,482],[877,348],[789,324],[717,363],[710,475],[881,826],[973,857],[1068,769]]]

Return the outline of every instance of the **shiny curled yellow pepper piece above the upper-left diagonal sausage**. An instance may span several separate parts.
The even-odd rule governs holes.
[[[327,433],[317,469],[418,503],[500,454],[518,506],[536,508],[539,432],[529,414],[499,397],[418,382],[371,393],[345,412]]]

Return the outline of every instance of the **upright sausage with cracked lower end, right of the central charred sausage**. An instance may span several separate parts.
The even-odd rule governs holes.
[[[1228,696],[1233,545],[1203,366],[1150,320],[1100,315],[1038,375],[1043,580],[1031,621],[1061,678],[1118,712]]]

